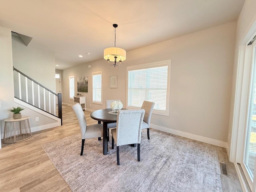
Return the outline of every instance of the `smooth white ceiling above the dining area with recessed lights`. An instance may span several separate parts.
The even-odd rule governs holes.
[[[50,50],[57,69],[237,20],[244,0],[0,0],[0,26]],[[30,45],[28,45],[30,46]],[[90,52],[90,55],[86,53]],[[83,55],[82,58],[78,55]]]

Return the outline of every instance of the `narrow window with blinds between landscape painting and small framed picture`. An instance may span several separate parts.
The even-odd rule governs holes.
[[[102,71],[92,73],[92,103],[102,104]]]

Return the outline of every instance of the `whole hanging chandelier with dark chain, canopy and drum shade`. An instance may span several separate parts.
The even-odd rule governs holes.
[[[114,67],[120,66],[121,62],[126,60],[126,51],[122,48],[116,47],[117,26],[117,24],[113,24],[113,27],[115,28],[115,47],[109,47],[104,49],[104,59],[108,61],[108,64],[114,65]],[[116,62],[119,62],[119,64],[117,64]]]

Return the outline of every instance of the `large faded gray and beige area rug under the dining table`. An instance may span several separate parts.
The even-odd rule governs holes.
[[[110,139],[111,140],[111,139]],[[116,145],[102,154],[102,141],[87,139],[80,156],[81,136],[76,134],[42,146],[73,192],[168,191],[220,192],[216,149],[179,138],[142,132],[140,162],[137,148]]]

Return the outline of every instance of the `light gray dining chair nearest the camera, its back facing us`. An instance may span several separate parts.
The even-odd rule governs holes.
[[[116,142],[116,159],[119,162],[119,146],[137,143],[138,161],[140,161],[140,139],[144,109],[119,110],[117,114],[116,128],[111,130],[112,149]]]

